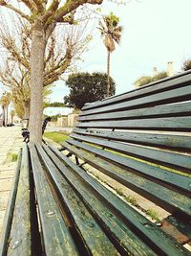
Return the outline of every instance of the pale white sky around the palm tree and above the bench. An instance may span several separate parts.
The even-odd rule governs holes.
[[[123,26],[121,43],[111,56],[111,77],[117,94],[133,89],[139,77],[152,76],[173,61],[180,71],[182,61],[191,58],[191,0],[132,0],[126,6],[104,0],[103,14],[114,12]],[[80,71],[106,72],[106,49],[95,29],[89,51],[79,63]],[[68,88],[63,81],[53,87],[51,101],[63,101]]]

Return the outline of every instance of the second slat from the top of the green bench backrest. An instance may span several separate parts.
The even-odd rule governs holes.
[[[191,85],[186,87],[174,89],[171,91],[160,92],[158,94],[144,96],[142,98],[138,98],[135,100],[130,100],[118,104],[113,105],[106,105],[100,106],[93,109],[83,110],[80,114],[82,115],[89,115],[89,114],[96,114],[96,113],[103,113],[103,112],[111,112],[111,111],[118,111],[118,110],[127,110],[132,108],[141,108],[141,107],[148,107],[154,105],[165,105],[165,104],[172,104],[172,103],[179,103],[184,101],[191,100]]]

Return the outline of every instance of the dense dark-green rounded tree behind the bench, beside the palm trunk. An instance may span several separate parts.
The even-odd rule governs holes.
[[[95,72],[76,73],[69,76],[66,85],[70,88],[69,96],[64,97],[64,104],[81,109],[86,103],[102,100],[107,95],[107,75]],[[116,93],[116,83],[110,77],[110,96]]]

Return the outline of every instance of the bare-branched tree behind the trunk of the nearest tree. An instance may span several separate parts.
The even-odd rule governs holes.
[[[0,21],[0,45],[5,49],[0,62],[0,81],[9,87],[17,115],[20,118],[29,118],[32,30],[29,24],[18,16],[11,16],[11,22],[16,24],[11,32],[7,20],[1,17]],[[50,37],[44,67],[43,97],[46,98],[52,92],[47,87],[53,86],[53,81],[61,78],[66,69],[74,69],[74,63],[86,50],[90,41],[90,35],[85,33],[86,26],[87,22],[83,22],[80,26],[74,25],[62,30],[57,28]],[[12,39],[15,37],[16,39]],[[46,103],[43,103],[43,106],[46,106]]]

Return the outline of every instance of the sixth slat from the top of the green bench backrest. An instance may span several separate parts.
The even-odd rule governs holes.
[[[106,149],[130,154],[144,160],[170,166],[172,168],[179,169],[180,171],[187,169],[187,172],[190,172],[191,174],[191,154],[180,154],[178,152],[145,148],[143,146],[132,145],[128,143],[124,144],[99,138],[97,139],[90,136],[81,136],[74,133],[71,134],[71,137],[79,141],[89,142],[96,144],[97,146],[105,147]]]

